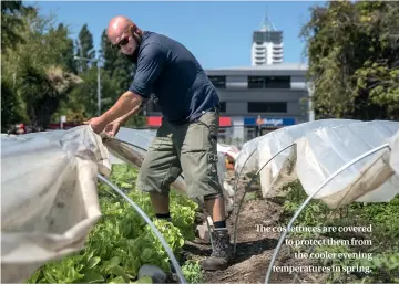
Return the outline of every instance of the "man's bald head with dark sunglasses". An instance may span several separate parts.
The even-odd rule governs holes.
[[[143,31],[132,20],[117,15],[111,19],[106,34],[112,45],[121,49],[123,54],[132,56],[141,43]]]

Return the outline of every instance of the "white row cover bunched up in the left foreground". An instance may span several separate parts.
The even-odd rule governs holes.
[[[21,283],[83,249],[101,217],[96,175],[111,165],[90,126],[1,136],[1,281]]]

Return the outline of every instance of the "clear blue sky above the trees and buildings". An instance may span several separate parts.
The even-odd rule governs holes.
[[[122,14],[139,28],[165,34],[183,43],[204,69],[250,65],[253,32],[267,14],[283,31],[284,62],[305,62],[300,29],[310,17],[309,8],[324,1],[25,1],[41,14],[54,13],[75,39],[83,24],[100,48],[101,34],[111,18]]]

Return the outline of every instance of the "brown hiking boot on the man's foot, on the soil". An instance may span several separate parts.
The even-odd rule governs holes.
[[[211,256],[203,261],[202,266],[206,271],[225,270],[232,256],[232,245],[226,228],[214,229],[212,232],[214,250]]]

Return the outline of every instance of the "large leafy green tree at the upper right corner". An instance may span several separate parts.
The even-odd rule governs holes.
[[[399,6],[331,1],[311,9],[307,42],[319,118],[399,118]]]

